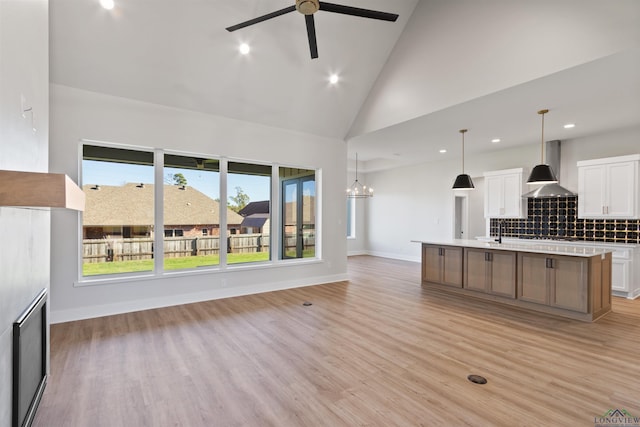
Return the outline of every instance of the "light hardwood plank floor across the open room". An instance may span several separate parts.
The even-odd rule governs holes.
[[[594,323],[348,282],[53,325],[35,426],[594,426],[640,416],[640,300]],[[311,306],[303,306],[309,301]],[[471,383],[469,374],[488,379]]]

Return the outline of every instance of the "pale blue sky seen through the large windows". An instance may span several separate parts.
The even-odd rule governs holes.
[[[182,173],[187,185],[206,194],[212,199],[220,197],[218,172],[165,168],[165,182],[173,183],[171,174]],[[131,165],[126,163],[82,162],[82,184],[124,185],[128,182],[153,184],[153,166]],[[253,175],[227,175],[227,193],[236,195],[236,187],[242,188],[249,195],[249,201],[270,200],[270,178]]]

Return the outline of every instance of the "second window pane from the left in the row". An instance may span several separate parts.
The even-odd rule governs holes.
[[[220,263],[220,161],[164,155],[164,269]]]

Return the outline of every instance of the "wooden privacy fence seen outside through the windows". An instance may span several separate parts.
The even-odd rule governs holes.
[[[227,238],[229,253],[266,252],[269,250],[269,244],[269,235],[233,234]],[[165,237],[163,246],[165,258],[214,255],[220,253],[220,237]],[[153,239],[151,238],[85,239],[82,241],[82,260],[85,263],[152,258]]]

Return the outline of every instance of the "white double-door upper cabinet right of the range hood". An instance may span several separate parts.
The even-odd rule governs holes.
[[[578,162],[578,217],[639,218],[640,154]]]

